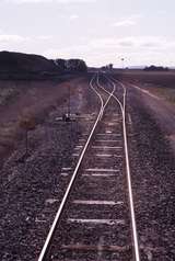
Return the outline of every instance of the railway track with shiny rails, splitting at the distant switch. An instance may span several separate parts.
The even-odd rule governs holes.
[[[126,89],[95,75],[101,100],[38,261],[140,261],[126,130]],[[116,94],[116,86],[121,91]],[[118,99],[118,97],[120,99]],[[82,145],[81,145],[82,146]]]

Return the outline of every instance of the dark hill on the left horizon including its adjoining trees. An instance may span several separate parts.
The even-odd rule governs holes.
[[[48,79],[68,73],[85,72],[81,59],[47,59],[39,55],[0,52],[0,79]]]

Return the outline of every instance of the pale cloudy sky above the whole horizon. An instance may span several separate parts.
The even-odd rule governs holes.
[[[175,66],[174,12],[174,0],[0,0],[0,50]]]

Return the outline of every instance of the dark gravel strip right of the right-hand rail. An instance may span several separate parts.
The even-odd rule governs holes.
[[[130,88],[131,177],[141,260],[175,260],[175,159],[161,102]],[[155,110],[156,109],[156,110]],[[160,110],[162,114],[160,114]],[[162,120],[160,121],[162,115]],[[171,129],[168,122],[168,130]],[[173,130],[173,128],[172,128]]]

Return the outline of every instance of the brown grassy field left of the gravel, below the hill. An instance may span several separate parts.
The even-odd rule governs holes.
[[[43,123],[50,111],[65,102],[69,87],[71,92],[74,92],[80,81],[81,79],[65,83],[55,81],[0,81],[0,94],[5,101],[0,105],[1,158],[14,147],[15,141],[24,138],[23,130],[19,125],[20,121],[30,115],[31,118],[35,118],[36,125]]]

